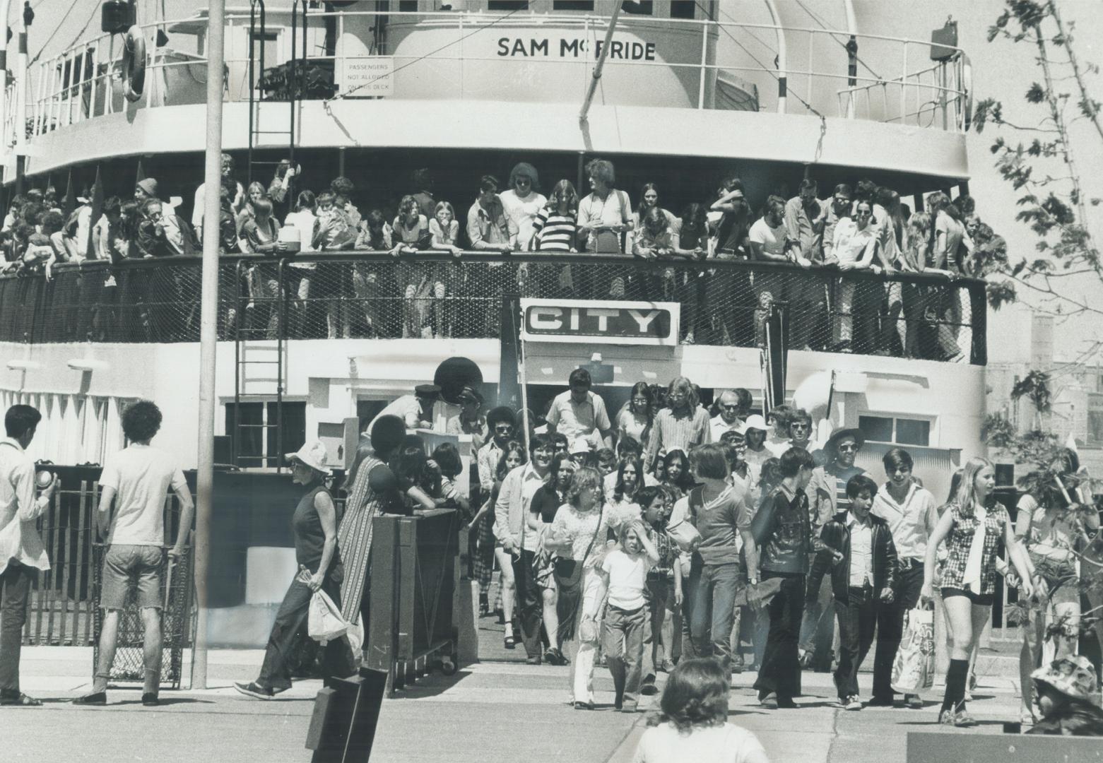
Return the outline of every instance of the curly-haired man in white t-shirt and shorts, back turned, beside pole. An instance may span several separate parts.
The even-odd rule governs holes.
[[[138,606],[144,627],[142,654],[146,675],[142,705],[158,705],[161,685],[161,547],[164,544],[164,496],[171,488],[180,502],[180,526],[169,557],[179,559],[192,529],[192,494],[184,473],[164,451],[149,441],[161,428],[161,411],[149,400],[138,400],[122,413],[122,431],[130,444],[104,465],[99,477],[99,511],[96,526],[107,534],[99,604],[104,621],[99,635],[99,659],[92,694],[75,705],[107,705],[107,681],[115,662],[119,612],[126,606],[131,582],[137,585]],[[116,505],[114,517],[111,505]]]

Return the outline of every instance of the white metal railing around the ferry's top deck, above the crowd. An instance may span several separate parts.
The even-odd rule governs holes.
[[[290,57],[289,41],[285,42],[291,33],[289,9],[271,8],[268,17],[271,21],[268,31],[276,36],[276,47],[280,52],[269,63],[280,64]],[[372,19],[371,24],[364,23],[365,17]],[[553,96],[548,95],[538,80],[533,82],[533,90],[549,100],[568,99],[580,103],[590,78],[596,43],[608,25],[608,18],[581,14],[518,13],[497,17],[469,12],[333,11],[310,12],[308,18],[312,22],[310,43],[313,46],[321,47],[323,30],[320,20],[323,19],[335,24],[338,40],[334,55],[311,55],[311,63],[332,66],[334,73],[340,73],[351,62],[383,62],[390,67],[388,76],[395,83],[387,97],[395,99],[484,99],[484,88],[478,86],[480,75],[485,79],[488,67],[511,64],[517,67],[539,67],[539,71],[547,73],[545,84],[554,83],[557,87],[566,87],[558,96]],[[237,50],[243,44],[236,39],[234,30],[244,28],[247,34],[249,14],[247,9],[232,11],[227,13],[226,20],[229,32],[224,75],[226,98],[229,101],[245,101],[248,100],[249,58],[246,51]],[[158,31],[185,22],[194,24],[196,21],[197,19],[192,18],[140,25],[150,55],[147,84],[137,101],[138,107],[203,103],[205,57],[157,46]],[[345,28],[351,24],[356,24],[356,28],[371,25],[373,29],[385,29],[386,34],[379,33],[373,40],[361,41],[366,44],[357,50],[351,46],[346,49]],[[491,46],[491,53],[494,54],[488,55],[485,50],[476,51],[479,45],[470,41],[482,32],[507,35],[510,30],[534,29],[552,35],[576,35],[569,42],[581,40],[588,44],[570,47],[572,55],[567,57],[544,54],[515,58],[495,53],[495,46]],[[618,23],[618,31],[625,35],[636,32],[641,35],[654,35],[656,30],[663,35],[681,35],[685,41],[681,51],[683,55],[666,55],[663,51],[662,60],[660,54],[654,54],[653,60],[644,57],[624,61],[610,57],[603,82],[615,83],[618,77],[624,77],[625,86],[610,87],[607,84],[607,101],[622,105],[639,103],[640,98],[646,98],[646,95],[641,94],[649,92],[647,83],[656,72],[670,69],[683,80],[686,107],[715,108],[717,75],[731,72],[758,86],[759,108],[765,111],[784,110],[785,104],[789,104],[793,110],[817,116],[861,118],[950,131],[963,131],[967,125],[972,85],[964,63],[966,58],[960,49],[949,49],[954,53],[949,63],[932,65],[925,55],[931,49],[928,41],[785,26],[781,33],[785,36],[790,51],[789,63],[784,68],[779,68],[777,64],[772,64],[775,60],[773,45],[763,40],[775,36],[779,32],[778,28],[770,24],[647,17],[622,17]],[[406,43],[414,39],[411,35],[422,32],[431,35],[435,41],[429,50],[399,52],[398,49],[403,47],[399,43]],[[864,67],[853,76],[847,73],[845,50],[852,37],[858,44],[858,61]],[[671,36],[667,39],[673,40]],[[730,41],[731,45],[740,49],[735,51],[730,61],[716,61],[716,46],[721,40]],[[556,42],[559,42],[558,37]],[[370,51],[368,55],[361,54],[364,47]],[[672,51],[673,49],[674,45]],[[28,98],[29,125],[25,128],[29,135],[36,137],[86,119],[128,110],[122,97],[121,55],[121,41],[116,40],[115,35],[103,34],[79,42],[40,63],[34,71],[34,90]],[[886,71],[892,74],[881,75],[879,71],[866,65],[866,61],[877,61],[878,68],[885,65]],[[920,63],[915,64],[917,61]],[[779,94],[775,84],[782,78],[786,82],[784,89],[788,97]],[[194,86],[190,87],[189,82]],[[347,95],[340,90],[339,83],[335,82],[335,85],[338,97]],[[888,92],[893,94],[892,98],[888,97]],[[878,93],[880,98],[876,97]],[[10,126],[6,126],[6,130],[12,129],[14,119],[7,121]]]

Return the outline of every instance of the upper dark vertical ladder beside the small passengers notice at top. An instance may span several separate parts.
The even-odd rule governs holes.
[[[264,109],[264,99],[260,98],[259,79],[265,74],[265,43],[267,42],[267,21],[265,14],[264,0],[249,1],[249,143],[247,161],[247,183],[259,180],[267,185],[269,173],[275,172],[279,164],[276,161],[261,161],[256,157],[258,147],[269,147],[271,144],[283,144],[286,140],[287,158],[295,165],[295,127],[296,111],[298,110],[297,80],[300,65],[307,60],[307,0],[302,0],[302,61],[299,61],[299,0],[291,3],[291,58],[288,62],[288,111],[287,121],[278,119],[276,109]],[[257,43],[260,52],[257,54]],[[259,66],[258,66],[259,64]],[[261,118],[261,115],[265,118]],[[281,140],[282,139],[282,140]],[[261,172],[267,169],[267,172]],[[288,187],[285,201],[288,208],[295,205],[293,193],[295,181]]]

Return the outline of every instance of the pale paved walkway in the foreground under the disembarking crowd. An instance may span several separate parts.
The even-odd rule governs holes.
[[[449,678],[430,674],[384,702],[372,763],[631,761],[646,716],[613,711],[607,670],[596,671],[599,708],[574,710],[565,703],[567,668],[524,665],[520,648],[502,648],[501,628],[491,619],[481,621],[480,630],[490,659]],[[213,652],[211,689],[163,691],[159,708],[142,708],[138,688],[115,689],[107,708],[79,708],[67,700],[88,689],[92,649],[26,648],[23,688],[46,705],[0,710],[0,757],[35,763],[309,761],[303,741],[320,681],[299,681],[267,702],[235,692],[232,683],[254,677],[260,660],[257,651]],[[847,712],[834,706],[829,676],[805,674],[800,709],[764,711],[749,688],[753,678],[738,676],[731,721],[754,731],[773,763],[902,763],[908,731],[939,730],[941,687],[928,692],[923,710]],[[867,691],[869,678],[861,678]],[[970,709],[982,724],[946,733],[1000,733],[1004,721],[1017,718],[1014,679],[982,675],[975,695]]]

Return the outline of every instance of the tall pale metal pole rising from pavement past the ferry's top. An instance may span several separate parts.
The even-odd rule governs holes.
[[[222,178],[222,67],[225,56],[225,0],[211,0],[207,15],[206,162],[203,229],[218,229]],[[192,688],[207,688],[207,569],[211,563],[214,483],[215,342],[218,323],[218,237],[203,237],[203,292],[200,308],[200,421],[195,512],[195,647]]]

